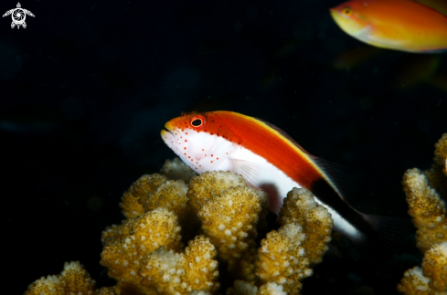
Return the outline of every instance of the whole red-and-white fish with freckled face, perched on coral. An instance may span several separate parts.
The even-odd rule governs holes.
[[[335,182],[338,177],[331,176],[336,164],[307,153],[269,122],[233,111],[194,112],[167,121],[165,129],[163,141],[191,169],[241,174],[269,194],[269,209],[276,215],[293,187],[305,187],[332,215],[335,230],[355,244],[365,244],[381,228],[385,240],[394,235],[387,217],[363,214],[350,205],[352,199]]]

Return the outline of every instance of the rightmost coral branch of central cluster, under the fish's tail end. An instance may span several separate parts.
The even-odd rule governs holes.
[[[280,225],[297,222],[303,227],[306,238],[302,247],[311,265],[320,263],[331,240],[334,220],[323,205],[318,205],[314,195],[306,188],[294,187],[284,198],[278,216]]]

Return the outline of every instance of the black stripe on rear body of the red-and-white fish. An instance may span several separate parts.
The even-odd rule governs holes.
[[[311,184],[310,191],[322,203],[330,206],[358,230],[368,236],[375,236],[374,229],[367,223],[367,221],[363,219],[355,209],[347,205],[332,185],[327,183],[324,178],[315,180]]]

